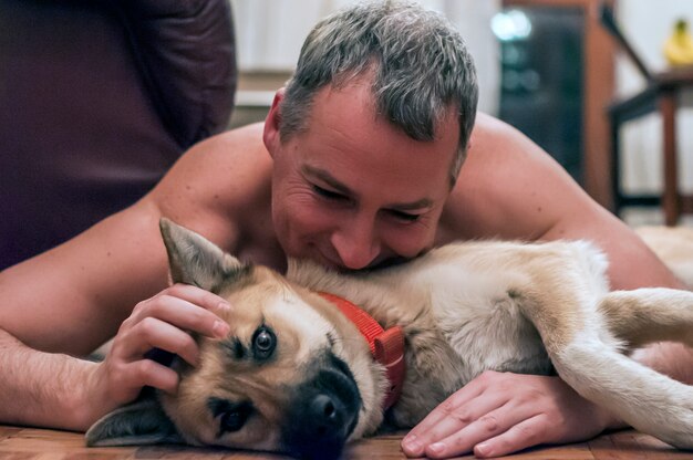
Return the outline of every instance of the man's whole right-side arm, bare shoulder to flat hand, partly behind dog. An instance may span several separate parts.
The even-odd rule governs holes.
[[[514,128],[480,115],[467,163],[446,209],[456,238],[588,239],[610,260],[613,289],[683,288],[624,223],[599,207],[545,151]],[[448,237],[449,238],[449,237]],[[693,383],[693,356],[676,345],[639,358]],[[687,374],[687,375],[686,375]],[[434,409],[403,440],[408,456],[510,453],[539,443],[591,438],[622,426],[557,377],[488,372]]]

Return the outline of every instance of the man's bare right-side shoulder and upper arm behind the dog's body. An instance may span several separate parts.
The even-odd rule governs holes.
[[[684,288],[628,226],[525,135],[479,114],[470,144],[446,208],[456,238],[590,240],[609,258],[612,289]]]

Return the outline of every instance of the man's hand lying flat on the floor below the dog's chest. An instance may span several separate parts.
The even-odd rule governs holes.
[[[540,443],[576,442],[610,416],[558,377],[485,372],[435,408],[403,439],[407,457],[474,451],[498,457]]]

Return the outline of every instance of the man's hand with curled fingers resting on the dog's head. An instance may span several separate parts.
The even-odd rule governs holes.
[[[170,352],[196,366],[199,349],[188,332],[223,338],[229,325],[214,312],[230,305],[199,288],[175,284],[138,303],[121,325],[104,362],[96,368],[90,393],[93,420],[134,400],[143,386],[167,393],[178,387],[177,374],[144,357],[152,348]]]

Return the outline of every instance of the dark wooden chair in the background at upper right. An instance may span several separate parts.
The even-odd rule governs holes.
[[[618,215],[628,206],[661,206],[668,226],[679,222],[682,213],[693,212],[693,196],[684,196],[679,189],[676,151],[676,112],[682,103],[680,94],[693,88],[693,65],[674,67],[664,72],[651,72],[618,27],[611,8],[601,6],[601,22],[623,48],[647,81],[638,94],[617,101],[608,107],[611,128],[611,185],[613,210]],[[627,122],[659,112],[662,116],[664,189],[661,196],[625,195],[621,188],[620,128]]]

